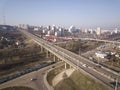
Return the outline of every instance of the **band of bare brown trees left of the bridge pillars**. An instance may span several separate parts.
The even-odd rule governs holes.
[[[12,63],[13,61],[20,60],[25,57],[32,57],[36,54],[40,54],[40,47],[22,47],[14,49],[6,49],[0,51],[0,62],[1,64]],[[18,58],[16,58],[18,57]]]

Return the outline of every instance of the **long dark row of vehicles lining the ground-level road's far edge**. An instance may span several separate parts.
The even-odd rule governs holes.
[[[38,69],[40,69],[40,68],[46,67],[46,66],[51,65],[51,64],[53,64],[53,63],[54,63],[53,61],[43,62],[43,63],[37,64],[37,65],[35,65],[35,66],[33,66],[33,67],[26,68],[26,69],[24,69],[24,70],[22,70],[22,71],[19,71],[19,72],[15,73],[15,74],[12,74],[12,75],[3,77],[3,78],[0,79],[0,84],[1,84],[1,83],[4,83],[4,82],[6,82],[6,81],[12,80],[12,79],[14,79],[14,78],[20,77],[20,76],[22,76],[22,75],[24,75],[24,74],[30,73],[30,72],[32,72],[32,71],[38,70]]]

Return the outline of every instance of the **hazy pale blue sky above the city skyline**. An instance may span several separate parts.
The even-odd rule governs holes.
[[[0,0],[0,24],[120,28],[120,0]]]

